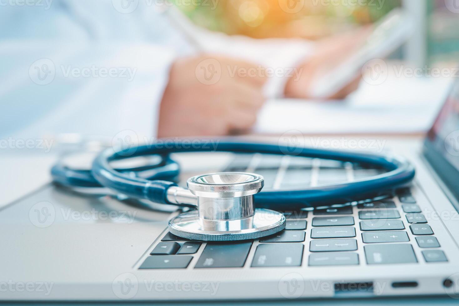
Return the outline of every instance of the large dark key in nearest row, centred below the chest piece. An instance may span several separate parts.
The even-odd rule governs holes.
[[[195,268],[240,268],[244,266],[252,242],[207,243]]]

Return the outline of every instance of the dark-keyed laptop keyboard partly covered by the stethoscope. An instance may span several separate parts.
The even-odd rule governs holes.
[[[261,154],[237,154],[225,171],[263,175],[265,190],[353,181],[384,172],[359,164]],[[314,267],[448,261],[410,188],[383,199],[290,211],[284,215],[285,230],[259,240],[205,243],[184,240],[167,232],[139,268]],[[410,240],[408,231],[414,240]],[[357,239],[357,235],[362,239]],[[423,258],[416,256],[413,246],[422,248]],[[247,262],[252,248],[255,248],[253,256]],[[364,258],[359,258],[356,252],[361,249]],[[197,261],[189,267],[194,257],[198,257]]]

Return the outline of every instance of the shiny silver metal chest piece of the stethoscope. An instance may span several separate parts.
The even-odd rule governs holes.
[[[187,181],[197,197],[197,210],[169,221],[172,234],[203,241],[257,239],[285,228],[282,213],[255,208],[253,195],[263,188],[263,177],[244,172],[198,175]]]

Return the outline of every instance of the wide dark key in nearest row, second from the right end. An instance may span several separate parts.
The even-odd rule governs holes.
[[[373,244],[364,250],[368,264],[418,262],[410,244]]]

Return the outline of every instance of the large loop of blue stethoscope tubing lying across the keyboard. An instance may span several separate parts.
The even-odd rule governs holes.
[[[372,195],[391,191],[408,184],[414,178],[414,167],[403,158],[382,156],[368,153],[354,153],[313,148],[300,148],[294,151],[289,147],[265,143],[218,142],[215,151],[235,153],[266,153],[280,155],[294,155],[308,158],[334,159],[343,162],[373,165],[384,168],[386,173],[362,180],[355,180],[335,185],[313,186],[302,190],[274,190],[261,191],[254,195],[257,208],[274,210],[312,208],[343,204],[351,201],[365,200]],[[168,154],[185,152],[205,152],[209,148],[203,146],[183,146],[181,142],[171,143],[168,148],[157,147],[155,144],[139,146],[134,156],[150,154]],[[157,203],[177,204],[168,197],[168,189],[177,186],[166,180],[146,180],[138,177],[129,177],[116,171],[110,166],[113,160],[123,159],[123,151],[112,148],[103,151],[95,158],[92,166],[92,175],[101,185],[114,189],[129,197],[147,199]]]

